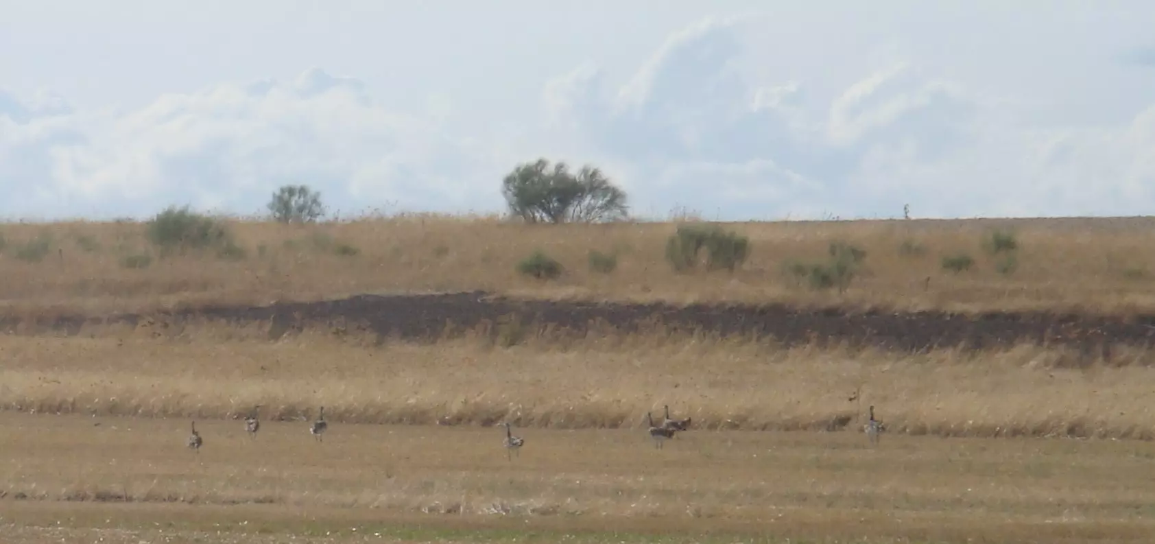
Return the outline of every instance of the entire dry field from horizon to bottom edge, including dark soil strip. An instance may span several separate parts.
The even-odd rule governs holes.
[[[142,268],[122,266],[148,251],[142,225],[6,226],[0,530],[36,544],[1149,542],[1141,221],[1013,224],[1011,275],[981,253],[992,224],[731,225],[753,244],[732,275],[670,271],[672,225],[237,223],[244,255]],[[16,256],[49,231],[54,253]],[[845,293],[781,274],[835,239],[870,253]],[[909,239],[929,249],[892,251]],[[584,268],[613,246],[616,273]],[[567,264],[561,280],[516,275],[535,247]],[[936,252],[964,247],[978,269],[942,273]],[[450,289],[506,298],[251,306]],[[872,404],[887,424],[875,447]],[[663,405],[693,429],[656,449],[646,413]],[[199,454],[184,447],[194,419]],[[501,422],[527,440],[513,460]]]

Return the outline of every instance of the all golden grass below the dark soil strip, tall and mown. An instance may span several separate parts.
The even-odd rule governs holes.
[[[1146,351],[1067,368],[1066,353],[1030,346],[896,357],[661,335],[514,348],[263,338],[262,323],[0,336],[3,542],[1155,534]],[[857,388],[860,407],[847,400]],[[251,440],[240,417],[254,404]],[[642,425],[663,404],[694,429],[658,450]],[[875,448],[855,422],[867,404],[888,425]],[[307,431],[319,405],[321,444]],[[191,418],[200,454],[184,447]],[[527,442],[512,462],[492,426],[505,419]],[[821,432],[832,422],[842,432]],[[1023,437],[1066,434],[1145,440]]]

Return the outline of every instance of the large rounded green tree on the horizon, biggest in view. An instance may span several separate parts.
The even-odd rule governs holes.
[[[576,173],[564,162],[539,158],[519,164],[505,177],[501,195],[509,214],[526,223],[597,223],[627,217],[626,192],[599,169]]]

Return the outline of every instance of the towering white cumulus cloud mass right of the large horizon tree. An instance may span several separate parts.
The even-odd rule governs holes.
[[[893,61],[893,51],[824,99],[806,79],[742,69],[758,21],[673,35],[617,92],[599,89],[593,65],[561,75],[545,88],[549,118],[580,131],[588,154],[626,162],[660,214],[893,217],[910,203],[923,216],[1113,215],[1155,204],[1150,110],[1125,126],[1036,126],[1012,110],[1030,100]]]

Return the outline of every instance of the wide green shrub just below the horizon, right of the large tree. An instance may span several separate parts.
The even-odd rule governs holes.
[[[708,270],[733,271],[746,262],[750,239],[717,225],[679,225],[666,240],[665,259],[676,271],[687,271],[701,263],[703,251]]]

